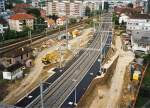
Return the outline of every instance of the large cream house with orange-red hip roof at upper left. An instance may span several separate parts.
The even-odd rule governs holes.
[[[35,17],[26,13],[17,13],[9,18],[9,26],[11,30],[22,31],[23,27],[33,29]]]

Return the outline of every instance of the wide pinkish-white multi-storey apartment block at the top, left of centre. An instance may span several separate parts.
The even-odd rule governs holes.
[[[69,17],[82,17],[84,15],[85,6],[81,1],[53,1],[47,3],[47,15],[69,16]],[[91,7],[92,8],[92,7]],[[93,9],[93,8],[92,8]]]

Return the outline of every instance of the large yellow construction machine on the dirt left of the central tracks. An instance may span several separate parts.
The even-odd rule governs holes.
[[[59,62],[59,59],[60,59],[59,53],[55,51],[55,52],[46,54],[42,58],[42,63],[44,63],[45,65],[47,65],[47,64],[55,64],[55,63]]]

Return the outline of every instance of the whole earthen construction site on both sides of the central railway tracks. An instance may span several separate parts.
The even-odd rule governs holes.
[[[119,33],[118,33],[119,32]],[[32,98],[29,94],[39,83],[46,81],[59,68],[68,65],[81,49],[89,46],[93,40],[93,28],[69,30],[54,39],[41,39],[33,43],[32,67],[25,69],[24,79],[15,80],[8,85],[8,95],[3,103],[13,105],[22,98]],[[77,108],[126,108],[135,107],[138,93],[148,64],[124,47],[122,33],[113,30],[113,41],[103,56],[102,73],[92,80]],[[92,75],[92,73],[91,73]],[[13,97],[13,99],[12,99]]]

